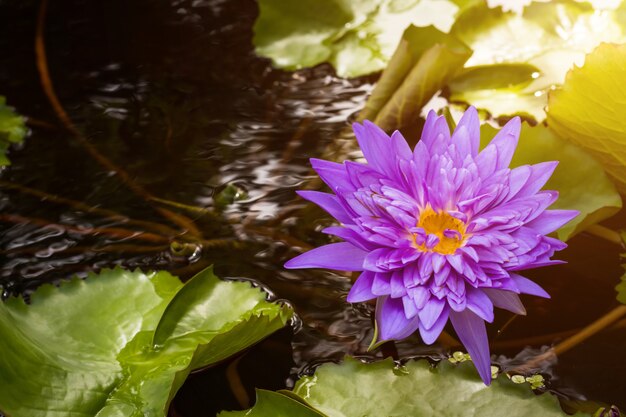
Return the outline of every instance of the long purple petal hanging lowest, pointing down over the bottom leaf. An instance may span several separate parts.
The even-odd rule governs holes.
[[[491,359],[485,322],[469,310],[450,312],[450,321],[461,343],[470,354],[485,385],[491,384]]]

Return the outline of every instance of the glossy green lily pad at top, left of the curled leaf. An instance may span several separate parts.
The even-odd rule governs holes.
[[[342,77],[382,70],[409,25],[447,31],[458,7],[448,0],[260,0],[259,55],[287,70],[330,62]]]

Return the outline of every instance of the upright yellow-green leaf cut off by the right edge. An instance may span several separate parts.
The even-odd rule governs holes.
[[[626,45],[603,44],[550,94],[548,124],[589,151],[626,192]]]

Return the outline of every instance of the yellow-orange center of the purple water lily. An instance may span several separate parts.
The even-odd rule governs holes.
[[[426,247],[426,244],[417,245],[416,243],[416,247],[424,252],[432,251],[442,255],[451,255],[463,246],[467,237],[465,223],[444,211],[436,212],[430,206],[420,213],[417,226],[423,228],[427,236],[435,235],[439,238],[439,242],[430,249]],[[447,233],[444,233],[446,231]]]

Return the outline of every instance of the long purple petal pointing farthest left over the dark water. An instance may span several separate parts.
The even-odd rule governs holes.
[[[339,271],[362,271],[367,252],[348,242],[320,246],[285,263],[287,269],[328,268]]]

